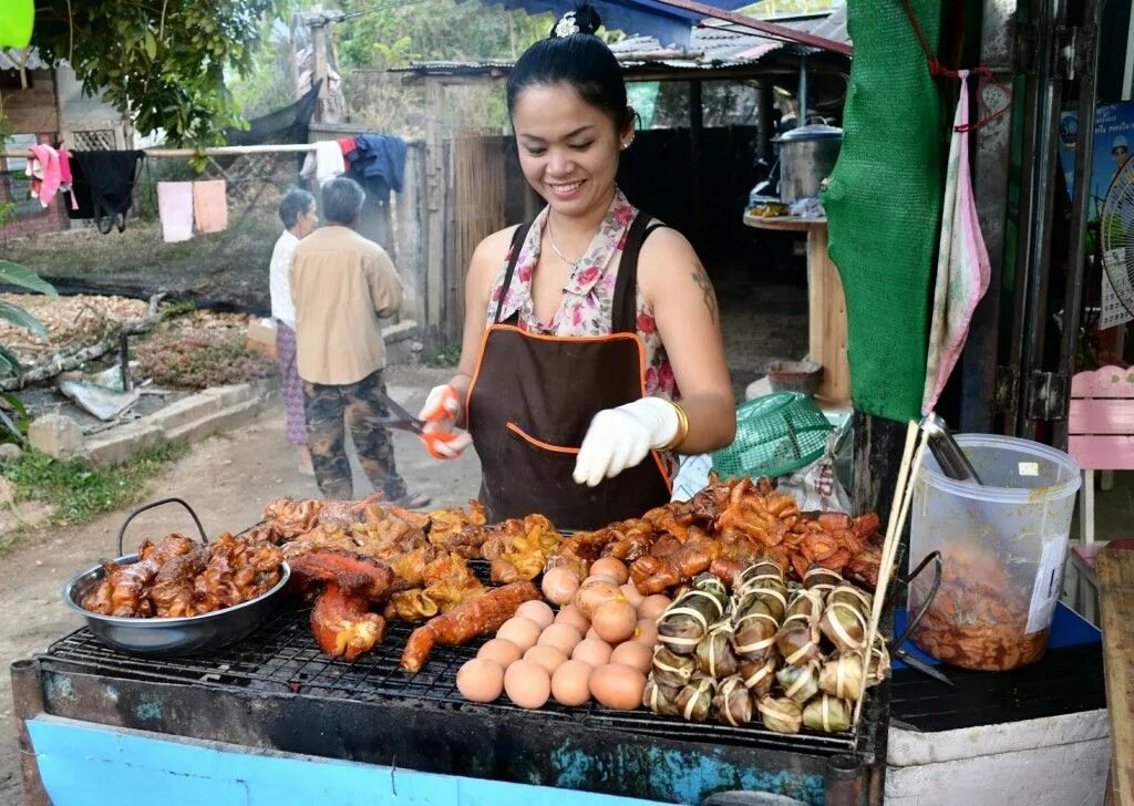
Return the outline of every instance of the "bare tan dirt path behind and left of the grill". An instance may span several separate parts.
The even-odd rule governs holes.
[[[416,412],[429,390],[448,375],[447,370],[395,367],[387,383],[393,398]],[[147,498],[184,498],[197,510],[205,531],[214,535],[256,523],[272,498],[316,495],[314,480],[296,470],[294,451],[284,434],[284,409],[278,405],[248,427],[193,446],[188,456],[153,481]],[[412,490],[432,497],[430,506],[458,506],[476,495],[480,468],[471,452],[455,461],[435,461],[406,432],[395,432],[395,444],[399,472]],[[356,495],[370,492],[357,468],[355,485]],[[111,512],[84,526],[43,529],[0,557],[0,612],[5,613],[0,628],[0,716],[12,726],[0,730],[0,804],[20,803],[23,791],[8,664],[44,651],[82,626],[82,619],[64,606],[60,589],[83,568],[115,554],[115,536],[125,515]],[[146,512],[128,529],[127,551],[147,535],[172,531],[192,534],[193,523],[183,509],[170,504]]]

